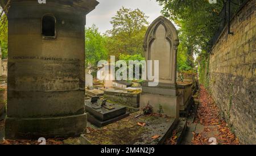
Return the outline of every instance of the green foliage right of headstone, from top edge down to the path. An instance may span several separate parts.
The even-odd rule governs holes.
[[[209,1],[194,0],[156,0],[163,6],[162,14],[173,20],[179,29],[180,47],[178,51],[178,70],[193,68],[193,55],[199,58],[196,65],[199,68],[200,82],[208,85],[208,54],[205,52],[210,37],[218,26],[219,16],[223,1],[217,0],[216,4]],[[187,61],[185,61],[187,57]]]

